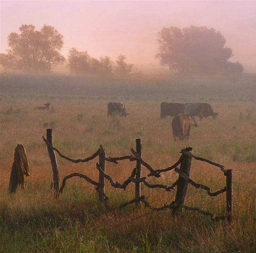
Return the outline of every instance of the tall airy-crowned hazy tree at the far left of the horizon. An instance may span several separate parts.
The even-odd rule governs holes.
[[[63,35],[54,27],[44,25],[37,31],[34,25],[22,25],[19,31],[20,34],[11,33],[8,36],[10,49],[1,53],[4,69],[42,73],[65,63],[65,57],[60,54]]]

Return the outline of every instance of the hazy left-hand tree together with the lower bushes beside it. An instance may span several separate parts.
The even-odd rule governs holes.
[[[35,30],[34,25],[22,25],[20,33],[8,36],[7,53],[1,53],[0,63],[4,69],[25,73],[50,72],[57,65],[66,64],[74,74],[120,74],[132,72],[133,64],[125,62],[126,57],[119,55],[114,63],[110,57],[91,57],[87,51],[77,51],[71,48],[67,59],[60,54],[63,48],[63,35],[50,26],[44,25],[41,30]]]

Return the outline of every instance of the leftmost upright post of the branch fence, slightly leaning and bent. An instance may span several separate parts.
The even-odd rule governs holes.
[[[53,146],[53,137],[52,137],[52,129],[46,130],[46,139],[47,141]],[[56,160],[56,155],[54,150],[47,146],[48,154],[50,156],[51,165],[52,165],[52,172],[53,172],[53,179],[54,179],[54,198],[59,197],[59,171],[58,165]]]

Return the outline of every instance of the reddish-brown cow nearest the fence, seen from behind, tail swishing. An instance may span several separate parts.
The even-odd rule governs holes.
[[[176,141],[176,137],[179,137],[179,140],[182,141],[185,137],[189,138],[189,132],[191,128],[191,118],[193,117],[188,113],[181,113],[178,116],[175,116],[172,120],[171,127],[172,127],[172,134],[174,136],[174,141]],[[196,121],[195,127],[197,127]]]

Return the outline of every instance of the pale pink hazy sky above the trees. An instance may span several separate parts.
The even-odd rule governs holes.
[[[0,0],[0,52],[22,24],[54,26],[64,36],[62,54],[76,47],[90,56],[120,54],[128,63],[158,65],[157,33],[163,27],[213,27],[233,49],[230,61],[256,69],[256,1],[10,1]],[[248,68],[249,69],[249,68]]]

